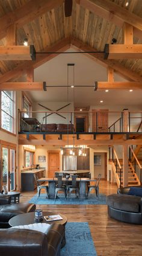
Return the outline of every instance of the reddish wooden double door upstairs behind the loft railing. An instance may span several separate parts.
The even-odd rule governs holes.
[[[108,109],[92,109],[92,132],[108,132]]]

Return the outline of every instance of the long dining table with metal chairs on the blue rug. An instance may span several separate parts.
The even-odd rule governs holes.
[[[55,186],[58,182],[58,178],[40,178],[39,182],[48,182],[48,197],[49,199],[55,198]],[[66,179],[62,178],[63,183],[72,183],[72,178]],[[79,197],[81,199],[86,199],[86,186],[88,182],[95,182],[96,178],[76,178],[76,182],[79,183]]]

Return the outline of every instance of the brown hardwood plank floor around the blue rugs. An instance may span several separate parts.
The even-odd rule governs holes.
[[[99,188],[106,195],[117,192],[117,186],[106,181],[100,181]],[[22,193],[20,202],[27,202],[35,193]],[[37,208],[62,213],[68,222],[88,222],[97,256],[142,255],[142,225],[110,219],[106,205],[37,205]]]

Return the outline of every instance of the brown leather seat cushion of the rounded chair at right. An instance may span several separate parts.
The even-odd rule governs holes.
[[[110,194],[106,197],[106,204],[111,208],[140,213],[141,197],[125,194]]]

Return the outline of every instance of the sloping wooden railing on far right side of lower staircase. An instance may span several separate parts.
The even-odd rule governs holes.
[[[131,161],[131,159],[134,159],[134,161]],[[140,185],[141,185],[141,164],[138,161],[137,156],[134,153],[134,150],[132,149],[132,146],[129,146],[129,162],[131,162],[132,167],[134,167],[134,171],[136,174],[138,174],[139,179],[140,179]]]

